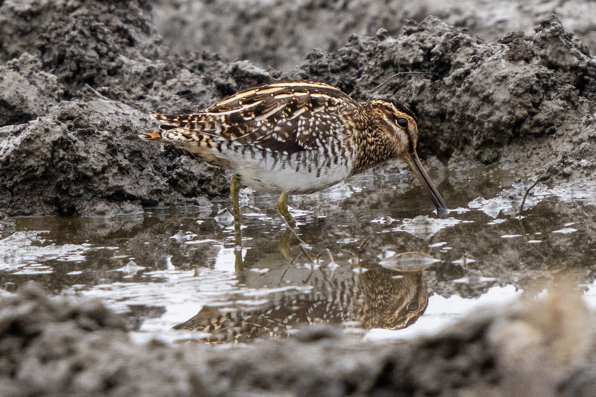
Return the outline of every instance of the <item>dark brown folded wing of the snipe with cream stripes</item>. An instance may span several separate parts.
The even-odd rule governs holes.
[[[324,83],[275,82],[223,99],[196,114],[153,114],[163,130],[184,129],[214,140],[275,152],[321,147],[344,129],[340,116],[358,103]]]

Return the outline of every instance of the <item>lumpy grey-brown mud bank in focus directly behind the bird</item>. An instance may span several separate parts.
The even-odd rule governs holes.
[[[557,17],[491,43],[436,18],[408,21],[401,35],[352,36],[287,73],[215,54],[167,55],[144,1],[5,1],[0,26],[0,211],[8,215],[208,205],[226,192],[225,174],[140,141],[155,128],[147,114],[201,110],[283,78],[401,99],[419,116],[419,151],[433,164],[496,164],[520,177],[596,168],[596,61]]]

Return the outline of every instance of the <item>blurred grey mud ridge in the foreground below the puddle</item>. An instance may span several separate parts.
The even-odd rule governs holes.
[[[3,396],[591,396],[594,387],[594,321],[572,292],[475,312],[411,343],[321,328],[225,350],[135,345],[100,303],[52,299],[35,285],[0,307]]]

